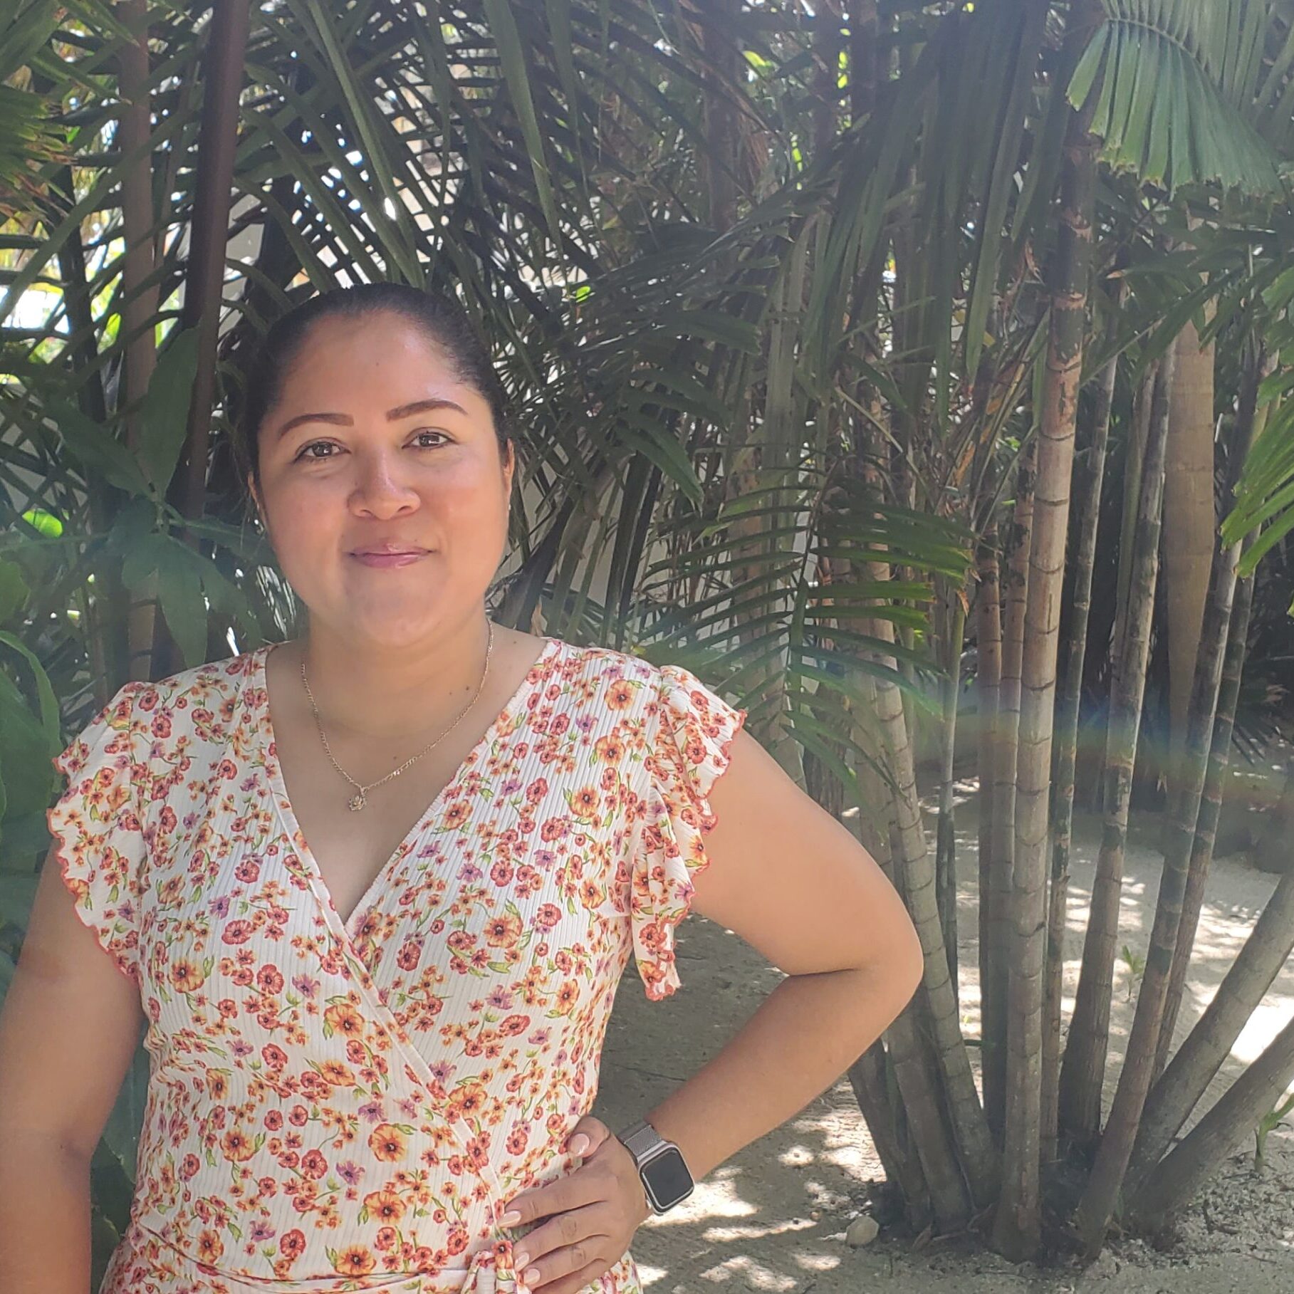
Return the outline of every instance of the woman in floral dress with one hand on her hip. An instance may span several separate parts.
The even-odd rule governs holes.
[[[56,760],[0,1021],[0,1141],[25,1157],[0,1162],[5,1289],[83,1294],[88,1162],[142,1024],[102,1290],[638,1291],[652,1210],[903,1008],[912,924],[687,670],[489,622],[515,457],[457,309],[316,298],[246,405],[309,629],[127,683]],[[788,978],[608,1128],[587,1112],[616,983],[633,956],[650,998],[675,990],[692,906]]]

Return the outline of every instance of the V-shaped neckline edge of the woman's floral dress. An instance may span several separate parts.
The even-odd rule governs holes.
[[[494,716],[490,726],[481,735],[480,740],[467,752],[466,756],[463,756],[458,767],[454,769],[453,774],[450,774],[449,780],[440,788],[439,792],[436,792],[431,804],[428,804],[427,807],[418,815],[417,822],[414,822],[400,844],[391,851],[382,867],[378,868],[373,880],[364,890],[364,894],[360,895],[360,901],[356,903],[348,917],[343,917],[338,911],[336,905],[333,902],[333,893],[327,886],[327,881],[324,879],[322,871],[320,871],[318,859],[316,859],[314,851],[311,849],[309,841],[305,839],[305,832],[302,831],[302,824],[296,820],[296,810],[292,807],[291,797],[287,795],[287,783],[283,778],[283,767],[278,760],[278,743],[274,735],[274,721],[269,710],[269,688],[267,687],[268,675],[265,670],[265,661],[269,659],[269,653],[274,650],[274,647],[281,644],[265,643],[264,646],[256,648],[254,682],[259,687],[259,695],[264,700],[264,713],[261,716],[263,723],[260,727],[260,731],[264,734],[264,739],[260,741],[260,747],[265,760],[267,775],[274,792],[274,805],[278,811],[278,818],[283,828],[287,831],[292,849],[298,853],[305,867],[311,889],[324,910],[329,927],[335,936],[342,938],[352,949],[352,951],[356,927],[373,908],[377,895],[380,893],[382,886],[388,879],[391,868],[396,866],[399,859],[404,858],[410,844],[421,836],[423,831],[426,831],[427,824],[440,811],[449,793],[458,787],[463,776],[476,765],[480,752],[483,749],[489,749],[499,731],[507,726],[516,712],[525,704],[529,699],[532,688],[536,687],[541,678],[547,674],[549,663],[556,655],[560,644],[562,642],[558,638],[543,639],[542,651],[531,663],[531,668],[525,672],[525,677],[518,685],[516,691],[514,691],[507,699],[503,708]]]

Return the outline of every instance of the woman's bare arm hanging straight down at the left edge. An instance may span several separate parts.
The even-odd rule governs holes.
[[[87,1294],[89,1161],[144,1018],[138,989],[78,919],[52,849],[0,1009],[5,1294]]]

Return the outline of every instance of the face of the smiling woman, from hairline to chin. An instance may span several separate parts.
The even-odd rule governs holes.
[[[480,608],[507,541],[511,450],[417,325],[313,325],[260,426],[258,503],[314,624],[399,647]],[[389,545],[402,560],[365,560]]]

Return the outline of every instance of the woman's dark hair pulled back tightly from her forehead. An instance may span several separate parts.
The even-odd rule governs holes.
[[[358,283],[312,296],[280,316],[256,348],[242,393],[242,411],[232,427],[239,483],[250,472],[260,484],[260,424],[278,400],[283,378],[302,352],[311,329],[324,318],[364,318],[392,311],[421,327],[445,352],[459,382],[475,388],[489,405],[499,454],[512,440],[507,395],[489,351],[463,308],[448,296],[408,283]]]

